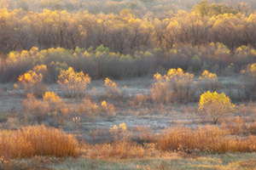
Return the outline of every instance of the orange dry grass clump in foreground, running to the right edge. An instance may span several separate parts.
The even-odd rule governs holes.
[[[160,150],[182,150],[185,152],[209,151],[253,152],[256,151],[256,137],[238,137],[230,135],[227,129],[220,127],[172,127],[157,137]]]

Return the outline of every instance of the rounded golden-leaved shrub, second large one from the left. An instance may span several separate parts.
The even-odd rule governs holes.
[[[83,71],[75,72],[72,67],[69,67],[67,71],[61,71],[58,83],[65,96],[81,97],[90,83],[90,77],[88,74],[84,75]]]

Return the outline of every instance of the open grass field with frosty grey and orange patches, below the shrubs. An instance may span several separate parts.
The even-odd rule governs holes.
[[[22,88],[15,88],[12,83],[1,84],[0,141],[5,147],[3,145],[0,168],[256,168],[255,104],[237,100],[240,82],[235,77],[219,77],[219,91],[230,93],[236,111],[221,116],[217,124],[212,124],[211,117],[198,114],[196,99],[186,103],[154,103],[148,100],[154,83],[150,77],[114,82],[120,94],[115,94],[113,89],[109,91],[104,81],[92,81],[85,98],[74,99],[66,98],[57,84],[47,84],[48,90],[55,94],[48,94],[44,99],[26,98]],[[45,108],[48,108],[47,113],[44,113]],[[62,111],[63,108],[67,111]],[[51,132],[48,127],[73,134],[70,138],[77,140],[79,146],[73,143],[73,139],[67,139],[73,142],[68,146],[63,143],[61,152],[50,149],[48,145],[52,144],[44,142],[49,134],[44,134],[44,138],[42,133],[36,139],[28,133],[42,131],[39,130],[42,127],[35,127],[37,124],[45,125],[45,134]],[[19,131],[20,128],[24,130]],[[52,133],[50,138],[61,142],[58,137],[61,133]],[[15,143],[15,140],[24,139],[26,142]],[[8,142],[10,140],[14,142]],[[45,145],[44,150],[36,149],[40,145]],[[21,151],[8,147],[20,148]],[[64,148],[77,151],[68,151],[73,153],[69,155]],[[76,154],[77,158],[69,157]]]

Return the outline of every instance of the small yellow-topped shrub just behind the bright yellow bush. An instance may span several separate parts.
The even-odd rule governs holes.
[[[218,83],[218,77],[216,74],[209,72],[209,71],[204,71],[201,74],[201,77],[199,77],[199,80],[202,81],[201,84],[201,91],[202,92],[215,92],[219,88],[219,83]]]

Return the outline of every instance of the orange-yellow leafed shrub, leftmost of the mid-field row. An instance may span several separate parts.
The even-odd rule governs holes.
[[[44,94],[47,89],[43,83],[45,69],[47,69],[46,65],[37,65],[32,71],[28,71],[18,77],[25,94],[33,94],[35,96],[42,96]]]

